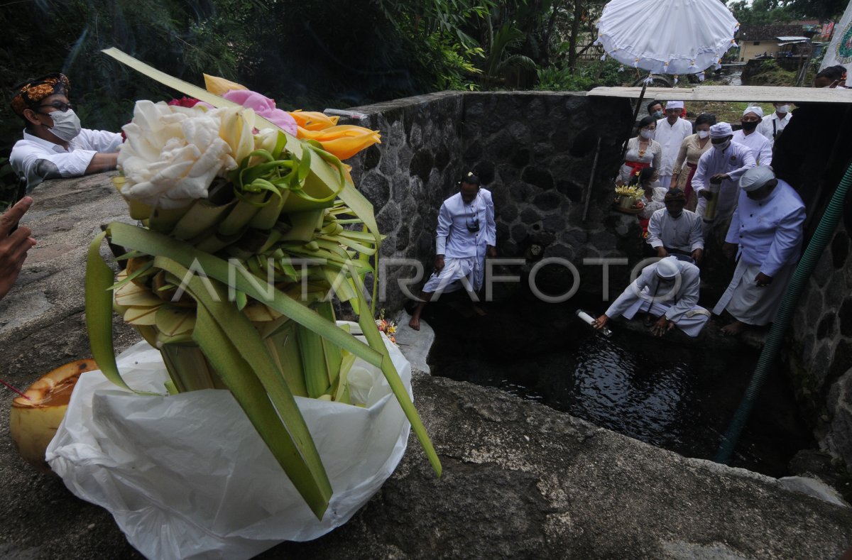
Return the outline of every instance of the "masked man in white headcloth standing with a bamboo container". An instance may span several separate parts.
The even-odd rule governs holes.
[[[711,231],[734,214],[740,177],[755,166],[751,150],[732,141],[733,138],[734,131],[731,130],[730,124],[716,123],[711,126],[710,141],[713,147],[701,155],[693,176],[693,188],[698,194],[698,208],[695,213],[704,220],[701,233],[705,243]],[[711,182],[719,186],[715,194],[710,190]],[[717,198],[716,211],[715,215],[709,218],[705,215],[709,214],[707,203],[714,197]]]

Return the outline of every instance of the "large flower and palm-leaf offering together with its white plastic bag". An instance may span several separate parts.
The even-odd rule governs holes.
[[[278,496],[287,503],[262,500],[262,511],[282,507],[307,511],[320,524],[331,523],[324,525],[325,530],[345,523],[354,510],[342,515],[343,510],[330,506],[337,503],[338,492],[348,491],[338,488],[334,472],[349,467],[357,471],[348,457],[360,461],[360,455],[335,451],[344,443],[334,437],[336,428],[316,431],[303,414],[303,404],[307,401],[308,408],[320,409],[342,407],[353,413],[369,408],[375,393],[365,389],[366,377],[375,378],[371,386],[387,387],[384,400],[391,401],[390,408],[398,409],[411,424],[440,476],[440,461],[414,409],[410,386],[400,377],[400,368],[406,369],[407,363],[392,356],[389,346],[393,345],[386,345],[367,301],[364,278],[373,275],[375,301],[375,260],[382,236],[371,204],[354,188],[348,166],[340,161],[378,142],[378,133],[337,126],[336,117],[321,113],[280,111],[272,100],[221,78],[205,77],[210,89],[206,91],[117,49],[104,52],[202,103],[187,107],[138,101],[133,121],[124,126],[127,140],[118,156],[122,174],[115,183],[128,202],[130,218],[140,220],[141,226],[113,222],[89,248],[89,340],[101,379],[109,380],[113,387],[83,391],[79,400],[83,408],[91,407],[94,418],[112,418],[111,427],[92,428],[103,430],[97,438],[103,449],[93,452],[101,453],[97,460],[67,450],[85,446],[75,448],[75,443],[66,442],[63,451],[58,443],[51,444],[51,466],[66,485],[87,500],[110,503],[107,507],[119,523],[125,523],[129,538],[130,529],[125,527],[139,525],[147,535],[141,540],[162,541],[164,547],[195,537],[181,536],[187,533],[183,522],[142,523],[153,515],[143,511],[142,504],[153,502],[181,511],[187,523],[195,523],[202,533],[219,531],[216,534],[227,534],[229,539],[261,540],[267,547],[283,539],[314,538],[318,533],[304,523],[296,523],[303,530],[273,534],[272,540],[268,532],[245,529],[236,521],[237,525],[222,524],[222,517],[206,514],[229,507],[241,511],[248,506],[240,500],[249,499],[236,493],[223,501],[199,500],[202,489],[189,481],[202,481],[202,486],[260,484],[264,489],[268,484],[286,486],[282,482],[286,481],[293,493],[284,498],[270,489],[268,499],[274,501],[273,496]],[[256,104],[256,111],[229,99]],[[118,257],[124,270],[118,277],[101,257],[105,239],[124,248],[125,253]],[[336,323],[332,296],[352,307],[357,323]],[[128,368],[138,364],[119,367],[112,346],[113,311],[156,349],[158,360],[147,353],[144,369],[148,373],[157,369],[159,377],[140,379],[137,385],[130,375],[134,369]],[[365,373],[368,369],[371,374]],[[202,402],[210,392],[220,400]],[[186,408],[195,406],[195,399],[199,399],[199,409],[189,414]],[[216,432],[187,438],[188,433],[204,427],[199,425],[212,426],[221,420],[217,414],[228,399],[244,421],[237,431],[222,431],[221,439],[227,441],[213,445]],[[63,422],[65,433],[74,432],[78,426],[72,422],[82,421],[86,415],[72,410],[76,400],[72,397]],[[165,415],[155,415],[145,426],[135,425],[139,416],[133,410],[144,417],[141,411],[153,406],[161,407]],[[233,414],[228,414],[227,422],[233,424]],[[363,426],[366,437],[373,429],[384,431],[369,422]],[[399,446],[395,437],[394,448]],[[200,446],[193,444],[196,440]],[[261,449],[252,448],[251,457],[266,454],[273,460],[274,466],[267,467],[268,476],[258,478],[261,475],[255,471],[241,471],[238,466],[232,471],[205,458],[212,445],[216,457],[236,465],[239,460],[230,454],[243,454],[244,441],[260,443]],[[333,443],[331,452],[326,447],[329,442]],[[171,473],[153,477],[157,488],[137,485],[139,481],[125,478],[127,471],[119,468],[146,470],[146,458],[153,460],[153,455],[161,464],[150,468],[156,471],[164,466],[168,467],[164,473]],[[376,455],[384,456],[383,452]],[[102,472],[83,476],[93,462],[118,469],[115,477],[125,483],[111,482]],[[385,459],[377,464],[380,470],[390,465]],[[393,466],[389,469],[381,481]],[[187,494],[182,483],[193,490]],[[99,485],[101,488],[95,488]],[[371,485],[370,494],[380,485]],[[101,500],[104,494],[112,495]],[[184,496],[184,500],[166,506],[172,495]],[[160,504],[160,500],[165,501]],[[248,517],[261,526],[281,523],[278,517],[272,521],[253,516]],[[174,555],[183,557],[186,550],[146,547],[142,551],[151,557],[179,551]],[[213,546],[210,550],[218,549]],[[243,553],[229,552],[227,556],[242,557]]]

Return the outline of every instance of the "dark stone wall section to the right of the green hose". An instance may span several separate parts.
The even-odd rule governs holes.
[[[849,209],[849,202],[847,202]],[[846,221],[852,216],[846,214]],[[793,319],[787,361],[820,447],[852,467],[852,239],[841,224]]]

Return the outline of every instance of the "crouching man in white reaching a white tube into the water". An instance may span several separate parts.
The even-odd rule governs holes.
[[[663,336],[677,327],[689,336],[698,336],[710,319],[710,311],[698,305],[699,269],[673,256],[642,269],[642,274],[625,289],[613,305],[592,326],[603,329],[611,317],[632,319],[637,312],[659,316],[651,334]]]

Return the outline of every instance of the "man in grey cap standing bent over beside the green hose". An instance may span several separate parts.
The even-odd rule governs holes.
[[[728,311],[734,322],[724,334],[748,325],[772,323],[802,251],[805,209],[802,198],[771,168],[749,169],[740,179],[740,203],[731,218],[723,251],[740,260],[728,289],[713,308]]]

